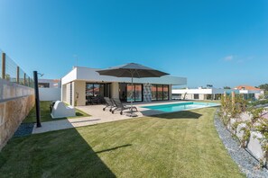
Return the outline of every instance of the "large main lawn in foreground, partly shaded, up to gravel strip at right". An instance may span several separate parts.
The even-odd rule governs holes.
[[[12,138],[1,177],[245,177],[214,127],[215,108]]]

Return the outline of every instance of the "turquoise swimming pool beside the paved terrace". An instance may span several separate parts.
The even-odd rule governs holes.
[[[214,102],[180,102],[180,103],[173,103],[173,104],[143,106],[142,108],[147,108],[150,110],[157,110],[157,111],[171,112],[171,111],[193,110],[193,109],[213,107],[213,106],[219,106],[219,105],[220,105],[219,103],[214,103]]]

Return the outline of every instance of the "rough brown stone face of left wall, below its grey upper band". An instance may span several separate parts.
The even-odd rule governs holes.
[[[12,138],[33,105],[34,95],[0,102],[0,150]]]

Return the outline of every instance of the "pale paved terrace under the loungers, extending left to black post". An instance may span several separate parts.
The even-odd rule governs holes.
[[[135,118],[140,118],[144,116],[151,116],[155,114],[161,114],[162,111],[153,111],[142,106],[146,105],[157,105],[164,103],[179,103],[179,101],[165,101],[165,102],[134,102],[134,106],[137,107],[138,111],[134,110],[134,113],[137,114],[137,117],[128,117],[126,116],[128,110],[125,110],[123,115],[120,115],[120,111],[115,111],[114,114],[108,111],[103,111],[104,105],[88,105],[88,106],[78,106],[77,109],[87,112],[89,117],[77,118],[77,119],[68,119],[68,120],[55,120],[42,122],[42,128],[36,128],[36,124],[32,130],[32,134],[43,133],[59,129],[69,129],[69,128],[78,128],[82,126],[95,125],[98,123],[105,123],[116,120],[130,120]],[[181,103],[181,102],[180,102]],[[127,103],[130,105],[130,103]]]

